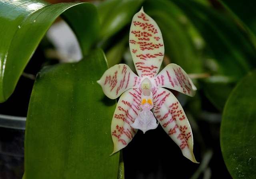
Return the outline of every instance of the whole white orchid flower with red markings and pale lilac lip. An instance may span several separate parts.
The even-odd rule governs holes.
[[[108,98],[121,95],[111,124],[113,153],[126,147],[138,129],[145,133],[155,129],[159,122],[183,155],[197,163],[186,114],[172,92],[165,89],[194,96],[196,87],[188,74],[174,63],[158,73],[164,57],[162,33],[143,8],[132,19],[129,44],[138,75],[128,65],[118,64],[97,81]]]

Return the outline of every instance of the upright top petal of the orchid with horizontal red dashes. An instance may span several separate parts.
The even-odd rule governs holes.
[[[164,42],[158,25],[143,8],[132,19],[129,43],[139,77],[156,76],[164,57]]]

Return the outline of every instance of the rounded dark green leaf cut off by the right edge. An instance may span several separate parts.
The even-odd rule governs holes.
[[[256,71],[230,94],[222,117],[220,144],[233,179],[256,178]]]

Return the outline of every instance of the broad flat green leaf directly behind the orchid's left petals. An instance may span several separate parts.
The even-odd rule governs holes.
[[[119,153],[109,156],[116,101],[96,83],[106,69],[104,53],[96,50],[38,73],[26,124],[26,179],[118,177]]]

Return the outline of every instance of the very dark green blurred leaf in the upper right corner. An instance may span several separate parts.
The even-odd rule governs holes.
[[[232,18],[196,1],[172,1],[184,11],[204,38],[206,54],[217,61],[219,75],[240,79],[256,67],[255,47]]]

